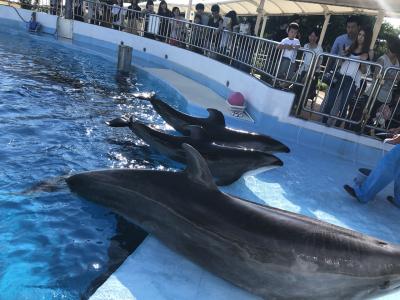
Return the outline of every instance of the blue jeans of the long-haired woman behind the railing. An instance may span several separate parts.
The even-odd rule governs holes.
[[[353,98],[353,95],[356,91],[356,85],[354,83],[354,80],[350,76],[344,76],[342,74],[339,74],[337,77],[337,82],[334,84],[333,87],[329,90],[328,93],[328,98],[326,100],[326,103],[324,104],[323,108],[323,113],[325,114],[331,114],[331,115],[337,115],[341,117],[343,114],[343,108],[348,104],[351,98]],[[338,112],[340,114],[336,114],[336,112],[333,112],[332,109],[334,107],[334,104],[336,102],[336,98],[338,96],[341,96],[339,100],[339,106],[338,106]],[[328,117],[323,117],[322,122],[326,123],[328,120]]]

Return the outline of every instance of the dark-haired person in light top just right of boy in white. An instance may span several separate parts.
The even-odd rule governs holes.
[[[304,49],[313,52],[315,57],[317,57],[318,55],[322,54],[322,52],[324,52],[322,47],[320,45],[318,45],[319,36],[320,36],[319,30],[317,28],[312,29],[310,31],[310,34],[308,35],[308,43],[304,45]],[[300,76],[298,78],[299,82],[304,83],[307,72],[312,67],[312,62],[313,62],[313,55],[309,52],[304,52],[303,63],[301,64],[300,69],[299,69],[299,74],[300,74]],[[319,72],[320,65],[321,65],[321,59],[319,59],[317,62],[317,66],[315,69],[316,73]],[[315,75],[311,81],[307,99],[314,98],[315,90],[317,87],[317,82],[318,82],[318,75]],[[301,91],[302,91],[302,86],[295,85],[294,90],[295,90],[296,97],[293,102],[293,108],[296,108],[299,98],[300,98]]]

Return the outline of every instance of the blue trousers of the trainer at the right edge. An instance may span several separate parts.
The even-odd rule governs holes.
[[[394,180],[394,200],[400,206],[400,145],[390,150],[360,186],[355,186],[357,198],[367,203]]]

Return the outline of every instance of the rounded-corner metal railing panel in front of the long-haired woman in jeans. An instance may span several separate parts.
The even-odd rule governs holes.
[[[319,115],[328,126],[360,131],[374,101],[380,64],[323,53],[316,58],[301,108]],[[378,74],[378,76],[372,76]]]

